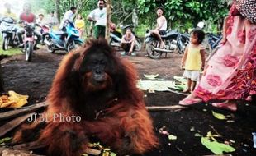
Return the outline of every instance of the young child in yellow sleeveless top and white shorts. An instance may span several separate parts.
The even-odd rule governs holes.
[[[182,68],[185,68],[183,76],[187,77],[187,89],[183,92],[192,92],[199,81],[200,71],[205,66],[205,50],[201,45],[205,33],[203,30],[192,30],[190,35],[190,42],[185,49],[182,58]]]

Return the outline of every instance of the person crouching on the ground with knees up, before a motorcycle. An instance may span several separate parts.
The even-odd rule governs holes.
[[[121,48],[125,50],[121,55],[127,54],[135,56],[135,53],[133,52],[135,49],[135,35],[132,34],[130,28],[127,28],[126,34],[121,38]]]

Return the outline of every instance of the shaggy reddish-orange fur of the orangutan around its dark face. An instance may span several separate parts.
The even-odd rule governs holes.
[[[59,69],[55,75],[55,80],[50,89],[47,101],[50,104],[46,114],[62,113],[64,116],[82,115],[81,122],[55,122],[50,116],[50,121],[40,133],[40,141],[49,145],[50,155],[79,155],[87,148],[91,136],[97,137],[104,145],[116,150],[119,155],[123,154],[143,154],[158,145],[156,136],[149,117],[149,112],[145,108],[143,93],[136,88],[137,74],[133,65],[125,59],[115,56],[111,50],[111,57],[116,63],[116,76],[123,72],[125,76],[120,77],[120,84],[115,84],[122,93],[116,93],[114,98],[107,99],[98,94],[94,100],[101,103],[95,110],[84,110],[84,113],[95,111],[94,119],[83,117],[83,110],[78,110],[76,104],[80,106],[92,103],[88,99],[79,99],[76,94],[69,94],[69,76],[73,70],[82,66],[83,58],[88,56],[88,51],[97,45],[99,48],[107,46],[106,41],[96,40],[88,42],[84,48],[78,52],[69,53],[60,63]],[[106,48],[104,48],[106,50]],[[111,48],[109,48],[111,49]],[[107,50],[106,50],[107,51]],[[110,50],[109,50],[110,51]],[[90,77],[90,73],[86,76]],[[115,77],[107,77],[107,84],[102,88],[113,85]],[[84,80],[87,80],[86,78]],[[121,86],[120,86],[121,85]],[[93,92],[93,86],[83,85],[84,92]],[[84,95],[86,97],[86,95]],[[81,98],[81,97],[80,97]],[[83,97],[82,97],[83,98]],[[100,108],[104,107],[104,108]],[[102,113],[98,113],[101,112]],[[97,115],[98,116],[97,116]]]

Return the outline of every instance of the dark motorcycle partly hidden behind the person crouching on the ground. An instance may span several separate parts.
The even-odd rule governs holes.
[[[132,28],[132,27],[133,27],[133,25],[121,26],[121,30],[126,30],[126,28]],[[139,37],[135,34],[135,32],[132,31],[132,34],[135,35],[135,51],[140,51],[141,50],[141,41],[140,41]],[[122,34],[119,31],[113,31],[110,34],[111,47],[121,48],[121,38],[122,38]]]

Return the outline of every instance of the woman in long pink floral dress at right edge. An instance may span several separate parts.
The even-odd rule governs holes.
[[[209,60],[197,89],[179,104],[187,106],[219,99],[225,101],[212,106],[236,111],[235,99],[255,97],[255,7],[251,0],[234,1],[224,29],[225,42]]]

